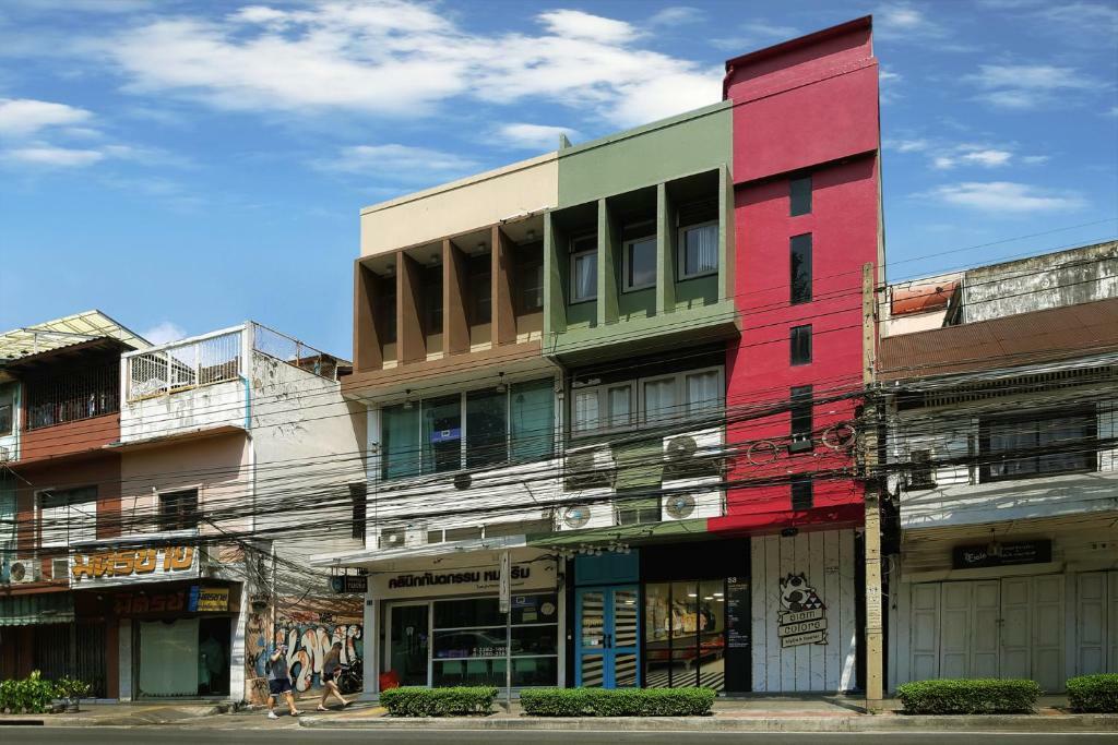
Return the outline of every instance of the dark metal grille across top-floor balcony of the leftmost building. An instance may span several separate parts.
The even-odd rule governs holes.
[[[27,429],[91,419],[121,410],[120,363],[74,369],[27,382]]]

